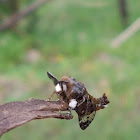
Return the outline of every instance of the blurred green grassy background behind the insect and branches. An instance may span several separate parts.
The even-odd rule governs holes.
[[[0,0],[1,24],[35,1],[15,2]],[[73,76],[94,97],[105,92],[110,100],[85,131],[73,111],[72,120],[31,121],[1,139],[140,140],[140,31],[117,48],[110,45],[139,9],[139,0],[127,0],[126,19],[117,0],[53,0],[1,31],[0,104],[47,99],[54,89],[47,71]]]

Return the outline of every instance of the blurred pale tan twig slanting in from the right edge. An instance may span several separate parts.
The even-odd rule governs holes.
[[[124,41],[130,38],[139,29],[140,29],[140,18],[138,18],[131,26],[129,26],[125,31],[123,31],[111,42],[112,47],[118,48]]]

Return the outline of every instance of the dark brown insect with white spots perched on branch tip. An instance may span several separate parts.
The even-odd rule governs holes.
[[[68,103],[69,110],[76,111],[82,130],[85,130],[94,120],[97,110],[104,109],[109,104],[105,93],[101,98],[94,98],[87,92],[84,84],[73,77],[63,76],[58,80],[50,72],[47,72],[47,75],[55,85],[51,98],[56,93],[59,100]]]

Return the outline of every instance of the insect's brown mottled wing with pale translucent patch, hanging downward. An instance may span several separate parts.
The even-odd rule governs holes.
[[[77,106],[75,111],[78,114],[80,128],[82,130],[85,130],[95,117],[96,104],[94,103],[92,98],[88,95],[85,98],[85,102]]]

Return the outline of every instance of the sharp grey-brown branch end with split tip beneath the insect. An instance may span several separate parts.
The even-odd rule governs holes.
[[[39,99],[29,99],[25,102],[10,102],[0,105],[0,136],[9,130],[21,126],[31,120],[44,118],[72,119],[66,111],[68,104],[60,101],[45,101]]]

